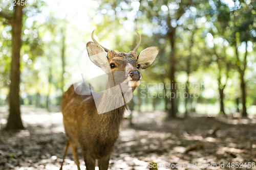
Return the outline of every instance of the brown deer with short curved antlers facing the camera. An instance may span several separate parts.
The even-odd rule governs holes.
[[[151,46],[137,55],[136,51],[141,43],[141,35],[137,31],[139,42],[129,53],[117,53],[105,48],[94,39],[93,33],[94,31],[91,33],[93,42],[89,41],[86,45],[88,56],[96,66],[108,75],[106,89],[119,86],[121,90],[118,92],[121,91],[121,93],[116,95],[117,92],[113,92],[113,90],[104,90],[100,95],[99,104],[95,102],[95,95],[92,94],[93,87],[87,82],[79,86],[73,84],[63,93],[61,112],[66,132],[66,145],[60,170],[69,147],[71,147],[78,170],[80,170],[78,147],[82,150],[87,170],[95,169],[96,160],[99,170],[109,168],[110,156],[118,139],[124,112],[127,109],[126,102],[122,106],[114,104],[114,107],[113,103],[131,99],[131,94],[141,83],[140,69],[151,66],[159,53],[157,46]],[[121,73],[113,76],[116,72]],[[126,85],[122,85],[122,82]],[[79,90],[84,89],[90,90],[88,95],[79,94]],[[110,104],[111,102],[112,104]]]

